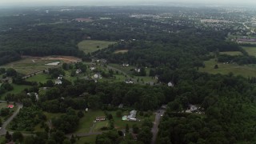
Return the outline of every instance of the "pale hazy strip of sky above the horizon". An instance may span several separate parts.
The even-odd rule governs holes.
[[[256,0],[0,0],[0,6],[93,6],[93,5],[165,5],[168,3],[202,3],[255,5]]]

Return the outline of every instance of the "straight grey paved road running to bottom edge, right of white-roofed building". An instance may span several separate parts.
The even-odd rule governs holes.
[[[154,144],[157,136],[158,136],[158,125],[161,119],[161,115],[165,113],[165,110],[158,110],[157,113],[155,114],[155,119],[154,119],[154,126],[152,127],[152,134],[153,134],[153,138],[151,141],[151,144]]]

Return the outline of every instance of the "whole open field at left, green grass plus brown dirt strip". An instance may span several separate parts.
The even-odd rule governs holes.
[[[78,62],[79,58],[70,57],[70,56],[49,56],[49,57],[23,57],[22,60],[16,62],[10,62],[4,66],[4,68],[14,68],[18,73],[21,74],[33,74],[34,72],[40,70],[46,70],[51,67],[56,66],[47,66],[46,64],[51,62]],[[60,64],[58,66],[61,66]]]

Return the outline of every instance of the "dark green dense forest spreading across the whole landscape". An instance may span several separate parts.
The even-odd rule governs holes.
[[[65,134],[78,128],[79,119],[83,117],[82,111],[86,108],[104,110],[106,113],[107,110],[117,110],[122,103],[127,110],[154,111],[167,104],[166,113],[159,125],[158,143],[256,142],[255,78],[198,71],[199,67],[205,66],[204,61],[210,58],[239,65],[255,64],[256,58],[249,56],[238,44],[226,41],[230,29],[206,28],[190,18],[179,18],[179,10],[105,7],[102,10],[87,8],[82,11],[54,11],[51,15],[39,10],[36,14],[15,16],[18,18],[1,17],[1,21],[14,22],[10,25],[11,29],[6,22],[2,23],[7,30],[0,33],[0,65],[18,60],[22,55],[60,54],[74,55],[84,60],[106,58],[111,63],[147,67],[150,69],[150,77],[159,76],[158,84],[154,86],[94,82],[85,78],[77,78],[74,82],[63,78],[62,84],[55,85],[51,80],[45,83],[26,82],[14,70],[3,70],[2,74],[12,72],[6,74],[13,77],[15,84],[30,85],[21,94],[5,96],[6,101],[22,102],[24,106],[18,117],[10,123],[10,129],[30,131],[41,123],[45,132],[27,137],[26,141],[30,141],[27,143],[74,143],[74,136],[68,139]],[[189,14],[190,10],[185,10],[184,13]],[[212,12],[211,9],[194,11],[206,14]],[[162,22],[158,19],[130,17],[135,12],[170,12],[174,16]],[[75,22],[74,18],[82,14],[94,21]],[[35,19],[38,15],[41,15],[40,20]],[[106,15],[111,19],[100,19]],[[56,18],[67,20],[52,24]],[[18,24],[18,21],[22,22]],[[77,44],[88,37],[117,43],[93,54],[84,54],[78,50]],[[115,50],[128,51],[115,54]],[[240,51],[243,55],[219,54],[223,51]],[[82,63],[74,67],[82,71],[87,68]],[[67,69],[66,65],[62,68]],[[60,74],[65,74],[62,68],[50,69],[48,74],[51,78],[58,78]],[[174,86],[167,86],[167,82],[172,82]],[[38,94],[43,87],[47,89],[37,100],[32,93]],[[12,90],[12,87],[3,84],[0,93],[8,90]],[[200,114],[186,113],[191,105],[200,107]],[[52,119],[54,128],[51,130],[43,112],[62,114]],[[104,133],[98,134],[96,143],[150,143],[152,122],[143,121],[142,127],[133,127],[134,133],[138,134],[137,141],[134,141],[131,134],[124,138],[122,131],[115,130],[112,116],[106,115],[110,126]],[[129,127],[126,129],[128,133]]]

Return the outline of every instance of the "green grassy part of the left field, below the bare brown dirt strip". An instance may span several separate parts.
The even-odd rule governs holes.
[[[21,74],[31,74],[34,72],[37,72],[39,70],[46,70],[53,66],[46,66],[47,63],[50,62],[58,62],[58,60],[46,60],[41,58],[22,58],[22,60],[16,61],[16,62],[10,62],[4,66],[4,68],[14,68],[14,70],[18,71],[18,73]]]

